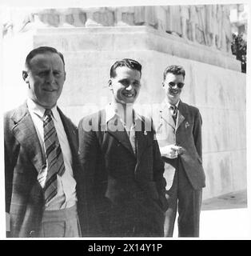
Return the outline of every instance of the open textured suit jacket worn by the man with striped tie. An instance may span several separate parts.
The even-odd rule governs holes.
[[[73,157],[77,182],[78,215],[82,217],[82,180],[78,160],[78,130],[58,109]],[[38,237],[44,198],[37,178],[46,159],[26,103],[4,116],[6,212],[10,213],[10,237]]]

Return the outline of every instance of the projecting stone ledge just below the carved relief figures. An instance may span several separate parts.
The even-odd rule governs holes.
[[[181,58],[241,70],[240,62],[231,54],[189,42],[149,26],[51,28],[37,30],[36,44],[50,42],[62,51],[76,50],[156,50]],[[67,34],[67,37],[66,37]]]

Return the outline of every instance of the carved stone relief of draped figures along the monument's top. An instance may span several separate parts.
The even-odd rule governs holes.
[[[152,26],[185,40],[230,52],[229,5],[10,9],[3,34],[42,27]]]

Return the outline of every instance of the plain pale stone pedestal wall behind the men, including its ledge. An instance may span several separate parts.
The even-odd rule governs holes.
[[[137,99],[137,110],[142,114],[154,114],[154,107],[164,97],[161,81],[165,67],[184,66],[181,99],[197,106],[203,118],[203,198],[246,188],[245,74],[232,55],[153,26],[27,30],[4,40],[6,109],[26,98],[21,75],[24,58],[33,47],[42,45],[54,46],[65,56],[66,83],[58,105],[76,124],[110,101],[107,82],[110,66],[117,59],[134,58],[142,64]]]

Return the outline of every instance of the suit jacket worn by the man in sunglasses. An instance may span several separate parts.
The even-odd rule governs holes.
[[[199,110],[180,101],[175,124],[168,106],[162,102],[157,115],[153,117],[153,122],[160,146],[175,144],[182,147],[179,159],[193,189],[199,190],[204,187],[205,173],[202,167],[201,145],[202,120]],[[165,172],[171,172],[175,168],[173,166],[175,161],[165,157],[163,159],[167,163]]]

